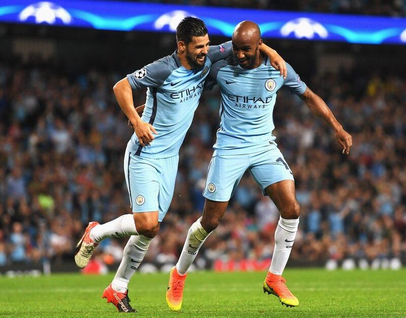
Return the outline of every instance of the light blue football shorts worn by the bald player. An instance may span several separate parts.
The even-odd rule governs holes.
[[[213,201],[228,201],[247,169],[264,195],[267,186],[282,180],[294,180],[276,146],[275,149],[252,154],[216,155],[209,164],[203,196]]]

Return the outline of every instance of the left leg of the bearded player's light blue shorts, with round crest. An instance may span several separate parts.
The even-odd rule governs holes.
[[[126,183],[132,213],[158,211],[159,173],[154,159],[128,152]]]

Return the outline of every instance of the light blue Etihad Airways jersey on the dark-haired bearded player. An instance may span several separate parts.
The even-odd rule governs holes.
[[[127,75],[132,89],[147,88],[142,120],[158,132],[147,147],[140,145],[134,133],[130,152],[149,158],[176,156],[192,123],[212,64],[231,54],[231,41],[211,46],[203,67],[187,69],[181,65],[175,51]]]

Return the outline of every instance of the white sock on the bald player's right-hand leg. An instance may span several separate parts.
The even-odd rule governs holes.
[[[269,271],[276,275],[282,275],[286,263],[292,251],[293,242],[296,236],[299,219],[287,220],[279,218],[275,230],[275,248],[272,255]]]

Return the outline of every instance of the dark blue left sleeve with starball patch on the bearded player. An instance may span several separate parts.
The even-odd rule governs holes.
[[[170,61],[165,58],[144,66],[136,72],[128,74],[127,80],[132,89],[159,87],[171,75]]]

